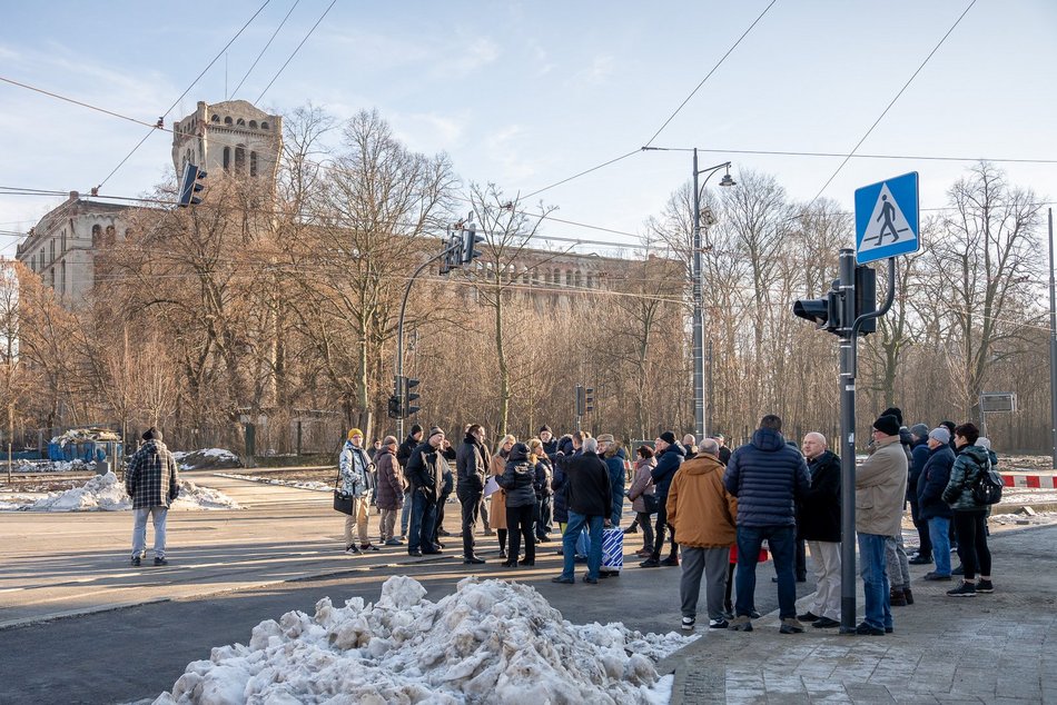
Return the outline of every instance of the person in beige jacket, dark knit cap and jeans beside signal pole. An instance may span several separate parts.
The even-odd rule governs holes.
[[[899,421],[881,416],[873,421],[877,450],[856,469],[856,533],[859,539],[866,618],[857,634],[882,636],[895,628],[889,607],[885,544],[902,530],[907,495],[907,454],[899,443]]]

